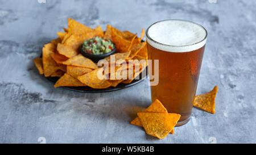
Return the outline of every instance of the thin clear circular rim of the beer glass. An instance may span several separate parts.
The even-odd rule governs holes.
[[[159,43],[158,41],[155,41],[154,39],[152,39],[152,38],[148,35],[148,30],[149,30],[150,27],[153,26],[154,24],[157,24],[157,23],[160,23],[160,22],[164,22],[164,21],[167,21],[167,20],[169,20],[169,21],[170,21],[170,20],[171,20],[171,21],[175,21],[175,20],[176,20],[176,21],[183,21],[183,22],[188,22],[188,23],[196,24],[197,26],[200,26],[201,28],[203,28],[203,30],[205,31],[205,37],[204,37],[204,39],[198,41],[197,43],[188,44],[188,45],[167,45],[167,44]],[[147,37],[148,39],[150,39],[151,41],[153,41],[153,42],[156,43],[156,44],[160,44],[160,45],[167,46],[167,47],[188,47],[188,46],[191,46],[191,45],[196,45],[196,44],[199,44],[199,43],[203,42],[204,40],[206,40],[206,39],[207,39],[207,36],[208,36],[208,32],[207,32],[207,30],[206,30],[203,26],[201,26],[201,25],[198,24],[198,23],[191,22],[191,21],[189,21],[189,20],[183,20],[183,19],[166,19],[166,20],[160,20],[160,21],[158,21],[158,22],[155,22],[155,23],[151,24],[151,25],[147,28],[147,30],[146,30],[146,37]]]

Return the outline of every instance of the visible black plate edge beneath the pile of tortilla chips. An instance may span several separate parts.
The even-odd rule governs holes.
[[[146,74],[145,74],[145,72],[146,72]],[[142,75],[146,75],[146,76],[142,77]],[[79,91],[82,93],[104,93],[104,92],[110,92],[110,91],[125,89],[130,86],[134,86],[134,85],[138,84],[139,82],[142,82],[144,79],[146,79],[147,75],[148,75],[147,68],[145,68],[143,70],[143,72],[141,74],[139,74],[139,79],[134,79],[129,84],[119,83],[116,87],[108,87],[106,89],[93,89],[88,86],[85,86],[85,87],[68,87],[68,86],[66,86],[63,88],[68,89],[68,90],[73,90],[73,91]],[[47,79],[49,81],[56,82],[59,79],[59,77],[47,77]]]

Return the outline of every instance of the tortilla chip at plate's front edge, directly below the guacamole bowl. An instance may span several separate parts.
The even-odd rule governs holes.
[[[79,81],[85,83],[85,85],[92,87],[94,89],[105,89],[111,86],[111,83],[108,79],[99,79],[99,76],[104,76],[104,68],[98,68],[93,70],[92,72],[86,73],[82,76],[77,77]]]

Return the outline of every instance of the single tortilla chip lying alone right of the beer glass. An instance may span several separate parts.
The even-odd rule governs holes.
[[[215,114],[215,98],[218,92],[218,86],[215,86],[209,93],[197,95],[193,102],[193,106],[204,111]]]

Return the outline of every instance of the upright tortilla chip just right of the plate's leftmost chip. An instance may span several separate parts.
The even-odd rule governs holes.
[[[44,76],[49,77],[52,73],[59,69],[59,65],[52,59],[52,51],[47,48],[43,48],[43,68]]]

